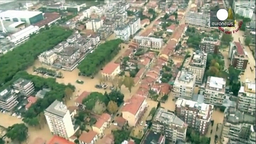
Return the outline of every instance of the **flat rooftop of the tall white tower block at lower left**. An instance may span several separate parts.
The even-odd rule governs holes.
[[[47,109],[45,112],[51,113],[53,115],[57,115],[60,117],[63,117],[66,115],[66,112],[68,111],[68,107],[63,104],[60,101],[55,100]]]

